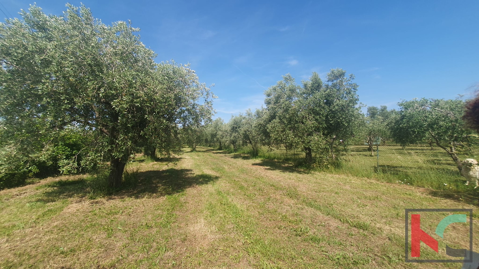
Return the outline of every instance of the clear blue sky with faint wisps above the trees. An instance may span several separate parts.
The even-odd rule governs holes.
[[[263,104],[290,73],[356,76],[360,101],[471,97],[479,83],[479,1],[82,1],[103,23],[132,21],[157,62],[191,63],[215,84],[216,117]],[[0,0],[7,16],[32,2]],[[65,1],[36,0],[60,15]],[[79,1],[70,1],[80,5]],[[3,13],[0,13],[4,16]]]

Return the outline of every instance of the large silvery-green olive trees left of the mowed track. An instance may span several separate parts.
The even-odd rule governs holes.
[[[69,128],[93,137],[80,150],[109,161],[118,187],[135,152],[180,150],[182,127],[211,118],[213,95],[189,66],[155,63],[131,23],[105,25],[67,6],[63,16],[31,6],[1,23],[0,179],[12,156],[28,167]]]

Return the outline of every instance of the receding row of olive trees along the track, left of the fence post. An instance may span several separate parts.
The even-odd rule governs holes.
[[[247,145],[253,156],[262,145],[299,148],[307,163],[333,164],[359,128],[362,114],[353,79],[342,69],[332,69],[326,83],[313,73],[298,85],[287,74],[265,91],[265,108],[248,110],[227,124],[217,119],[202,130],[203,143],[231,145],[233,150]]]

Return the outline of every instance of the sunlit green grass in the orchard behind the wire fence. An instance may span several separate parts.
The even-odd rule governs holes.
[[[477,151],[477,150],[476,150]],[[239,154],[247,154],[250,149],[241,149]],[[470,155],[459,155],[466,158],[477,158],[477,152]],[[245,155],[242,155],[247,158]],[[265,163],[297,163],[304,159],[301,151],[285,151],[284,149],[268,150],[261,148],[257,159]],[[453,159],[439,147],[431,149],[429,145],[409,145],[402,147],[396,144],[379,146],[379,158],[376,147],[374,154],[367,150],[367,145],[350,146],[350,151],[342,156],[338,167],[323,168],[334,174],[353,175],[378,179],[383,182],[413,185],[436,190],[435,195],[465,200],[478,205],[479,191],[474,189],[475,182],[465,185],[466,179],[460,175]]]

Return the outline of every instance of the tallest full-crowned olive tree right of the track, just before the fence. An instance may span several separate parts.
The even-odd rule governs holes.
[[[354,75],[346,76],[342,69],[331,69],[327,83],[314,72],[302,87],[291,75],[283,76],[265,92],[271,139],[303,148],[307,162],[312,161],[313,151],[324,163],[336,162],[361,115],[353,80]]]

